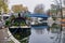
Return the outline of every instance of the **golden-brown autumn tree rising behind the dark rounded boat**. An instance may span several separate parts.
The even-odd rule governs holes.
[[[12,11],[14,13],[18,13],[18,12],[28,11],[28,9],[27,9],[27,6],[23,6],[23,4],[15,4],[15,5],[12,5]]]

